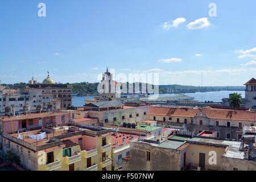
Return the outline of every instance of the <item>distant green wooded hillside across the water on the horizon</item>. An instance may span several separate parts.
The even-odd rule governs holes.
[[[26,83],[17,83],[17,84],[2,84],[9,89],[23,88],[28,86]],[[73,94],[78,96],[95,96],[98,94],[97,86],[98,83],[89,83],[89,82],[80,82],[80,83],[67,83],[69,88],[72,88]],[[127,83],[127,90],[129,86],[134,86],[135,84]],[[142,84],[139,83],[140,90]],[[149,84],[147,86],[150,86]],[[186,93],[186,92],[216,92],[221,90],[228,91],[244,91],[245,86],[188,86],[188,85],[159,85],[159,93]],[[135,90],[134,90],[135,91]]]

